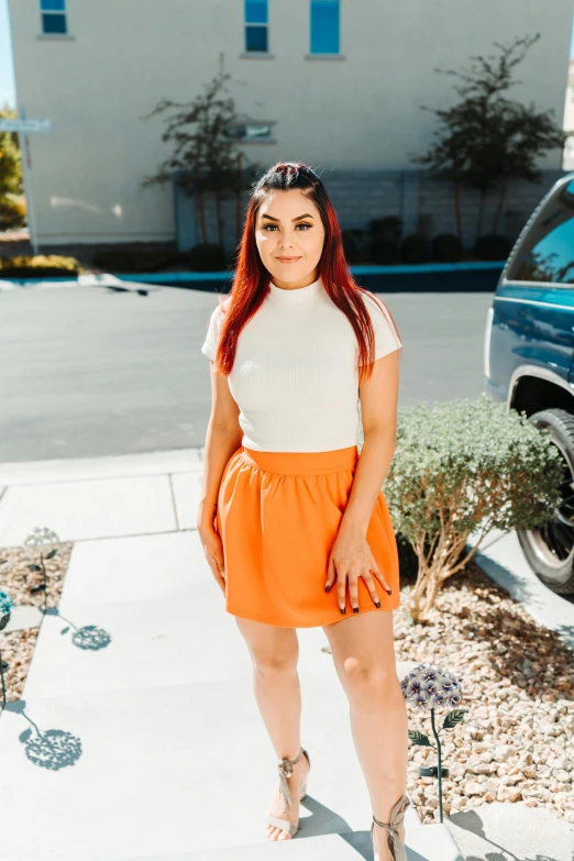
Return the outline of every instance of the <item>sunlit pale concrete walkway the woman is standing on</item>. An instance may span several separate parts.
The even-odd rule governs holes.
[[[372,858],[368,794],[321,628],[298,631],[312,761],[300,831],[265,839],[276,757],[195,529],[201,468],[200,449],[0,465],[0,547],[43,525],[76,542],[23,699],[0,718],[7,861]],[[409,861],[483,861],[495,846],[571,861],[572,835],[518,805],[444,826],[407,812]]]

